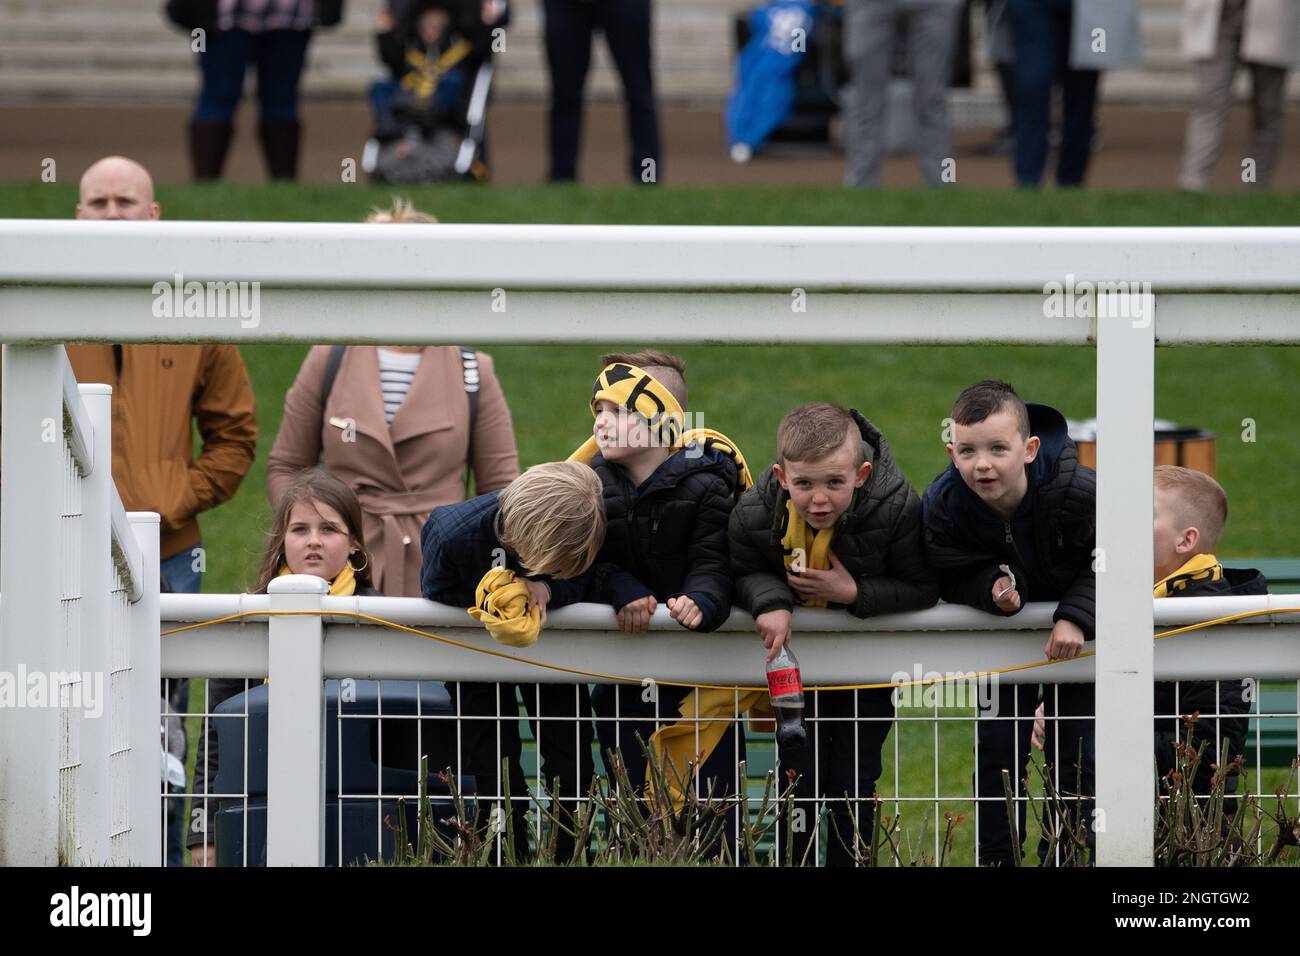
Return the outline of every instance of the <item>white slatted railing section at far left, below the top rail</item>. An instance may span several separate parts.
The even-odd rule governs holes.
[[[112,389],[61,346],[5,346],[5,865],[160,858],[159,519],[122,510],[110,431]]]

